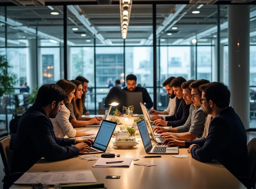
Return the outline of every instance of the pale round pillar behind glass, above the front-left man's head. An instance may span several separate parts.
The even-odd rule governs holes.
[[[39,40],[38,40],[39,41]],[[38,43],[39,44],[39,43]],[[36,39],[29,39],[28,40],[28,56],[27,56],[27,83],[28,87],[32,90],[37,86],[37,75],[38,70],[36,63],[39,63],[39,60],[37,59],[37,54],[40,54],[40,48],[38,48],[37,54],[36,54]],[[42,66],[41,66],[42,67]],[[39,65],[38,65],[39,68]]]

